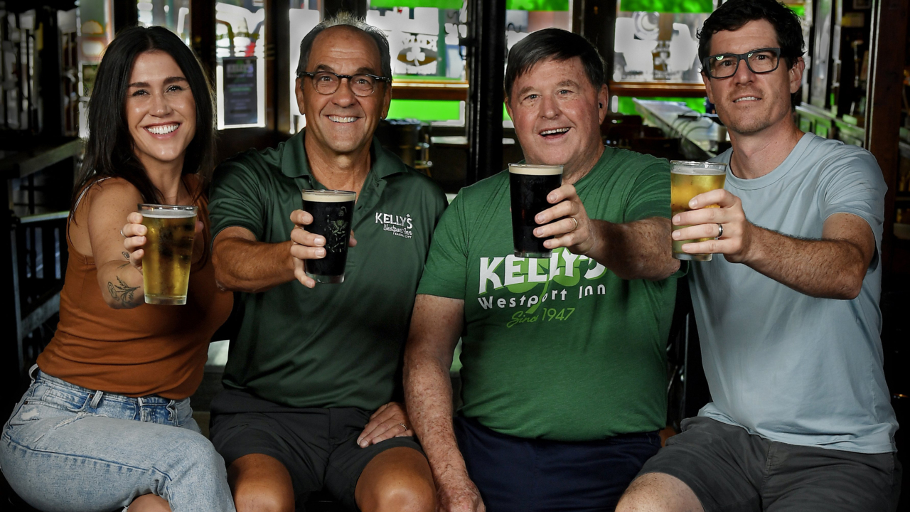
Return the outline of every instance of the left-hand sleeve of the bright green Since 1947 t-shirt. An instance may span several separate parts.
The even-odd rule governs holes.
[[[417,292],[464,299],[468,275],[468,232],[461,206],[462,194],[442,212],[433,232],[430,254]]]

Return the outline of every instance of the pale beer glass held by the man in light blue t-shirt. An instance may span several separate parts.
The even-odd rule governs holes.
[[[688,162],[672,160],[670,162],[670,209],[672,215],[692,210],[689,201],[693,197],[713,189],[723,189],[727,178],[727,164],[716,162]],[[719,208],[716,204],[705,208]],[[689,226],[673,226],[673,230],[682,230]],[[711,261],[711,254],[688,254],[682,252],[682,244],[709,241],[710,238],[693,240],[674,240],[673,258],[677,260]]]

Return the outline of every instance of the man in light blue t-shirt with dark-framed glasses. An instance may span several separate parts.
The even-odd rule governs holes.
[[[724,189],[693,198],[672,238],[713,239],[682,246],[715,254],[690,272],[713,402],[617,510],[893,510],[882,172],[868,151],[794,125],[803,37],[787,7],[732,0],[699,38],[733,148],[714,159],[729,164]]]

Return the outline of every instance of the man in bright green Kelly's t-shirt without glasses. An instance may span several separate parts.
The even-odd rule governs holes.
[[[612,510],[666,420],[670,169],[604,148],[602,59],[581,36],[523,39],[505,93],[526,161],[563,166],[535,218],[552,256],[513,255],[507,171],[460,191],[414,305],[408,412],[443,510]]]

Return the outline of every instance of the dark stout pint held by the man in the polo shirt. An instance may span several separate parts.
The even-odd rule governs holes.
[[[307,230],[326,239],[325,258],[303,262],[303,270],[316,282],[344,282],[356,200],[357,193],[348,190],[303,190],[303,210],[313,216]]]

